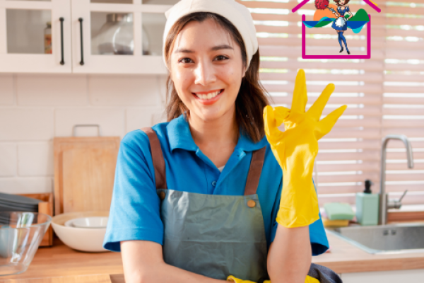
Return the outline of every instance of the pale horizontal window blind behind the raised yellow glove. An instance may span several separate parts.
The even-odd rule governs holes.
[[[307,108],[327,83],[336,89],[323,117],[339,106],[348,108],[334,129],[319,141],[316,160],[319,202],[355,202],[355,192],[372,180],[379,191],[382,137],[406,134],[413,146],[415,167],[406,166],[406,150],[389,141],[387,191],[404,204],[424,204],[424,0],[374,1],[377,13],[364,1],[351,0],[353,15],[359,8],[370,14],[371,59],[302,59],[302,14],[312,21],[311,0],[296,13],[295,0],[242,1],[254,19],[261,54],[260,79],[273,105],[290,108],[298,69],[305,70]],[[334,4],[331,1],[330,4]],[[351,54],[365,54],[366,30],[344,34]],[[336,31],[307,28],[307,54],[338,54]],[[346,54],[346,51],[343,53]]]

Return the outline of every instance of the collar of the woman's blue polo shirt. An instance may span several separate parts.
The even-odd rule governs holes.
[[[167,136],[170,141],[170,151],[174,149],[185,149],[187,151],[196,151],[199,149],[194,143],[192,133],[190,132],[189,122],[184,118],[184,115],[171,120],[166,126]],[[261,141],[254,143],[250,137],[240,132],[239,140],[236,149],[239,151],[255,151],[266,146],[266,137]]]

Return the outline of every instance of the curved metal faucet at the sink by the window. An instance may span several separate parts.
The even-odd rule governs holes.
[[[404,195],[401,196],[399,200],[389,201],[388,195],[386,193],[386,151],[387,144],[389,139],[399,139],[404,142],[406,147],[406,158],[408,159],[408,168],[413,168],[413,157],[412,157],[412,147],[408,138],[404,134],[389,134],[383,139],[382,144],[382,171],[380,178],[380,192],[379,192],[379,224],[387,224],[387,210],[390,208],[401,208],[401,200],[406,195],[406,190]]]

